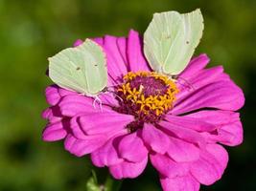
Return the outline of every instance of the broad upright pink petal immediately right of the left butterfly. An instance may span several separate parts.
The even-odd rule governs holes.
[[[123,57],[119,52],[117,39],[114,36],[106,35],[104,39],[104,49],[107,59],[107,71],[113,80],[123,77],[124,74],[128,73],[126,64],[124,63]]]

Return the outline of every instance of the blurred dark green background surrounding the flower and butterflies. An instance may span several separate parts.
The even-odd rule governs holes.
[[[193,11],[205,19],[198,53],[221,64],[244,89],[244,143],[228,148],[223,178],[201,190],[256,190],[256,1],[255,0],[0,0],[0,190],[85,191],[89,159],[75,158],[62,142],[41,140],[47,107],[47,57],[77,38],[144,32],[153,12]],[[105,170],[98,170],[104,179]],[[161,190],[149,166],[122,191]]]

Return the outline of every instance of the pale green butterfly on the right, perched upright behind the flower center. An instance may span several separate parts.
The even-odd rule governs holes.
[[[144,33],[144,53],[151,68],[175,76],[188,65],[203,31],[200,10],[154,13]]]

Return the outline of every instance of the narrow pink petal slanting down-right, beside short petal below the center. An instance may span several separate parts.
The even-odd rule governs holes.
[[[196,143],[199,147],[205,146],[205,139],[200,136],[198,132],[192,129],[176,126],[172,122],[168,121],[161,121],[159,125],[172,137],[181,138],[186,140],[187,142]]]

